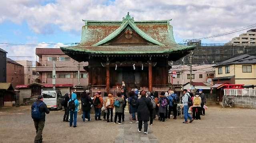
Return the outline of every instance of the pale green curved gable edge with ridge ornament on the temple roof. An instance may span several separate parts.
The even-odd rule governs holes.
[[[123,18],[122,24],[120,27],[118,27],[118,29],[116,29],[114,32],[112,32],[110,35],[108,35],[107,37],[105,37],[104,39],[100,40],[98,43],[92,45],[92,46],[99,46],[102,45],[108,41],[110,41],[111,39],[113,39],[114,37],[116,37],[118,34],[120,34],[127,26],[130,26],[136,33],[138,33],[138,35],[140,35],[142,38],[144,38],[145,40],[154,43],[156,45],[160,45],[160,46],[164,46],[164,44],[156,41],[155,39],[153,39],[152,37],[150,37],[149,35],[147,35],[145,32],[143,32],[140,28],[138,28],[135,24],[134,24],[134,20],[133,18],[131,18],[131,16],[129,15],[129,13],[126,15],[126,18]]]

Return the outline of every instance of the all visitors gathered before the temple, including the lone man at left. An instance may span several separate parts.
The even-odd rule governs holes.
[[[90,118],[90,112],[92,106],[95,109],[95,121],[100,121],[101,113],[103,112],[103,121],[114,122],[115,124],[122,124],[124,122],[124,110],[128,102],[129,105],[129,123],[138,123],[138,132],[142,132],[142,125],[144,125],[144,134],[148,134],[148,121],[149,125],[153,125],[154,120],[160,122],[165,122],[166,119],[177,119],[180,114],[177,112],[177,106],[179,98],[173,90],[168,90],[167,92],[146,92],[141,90],[138,92],[137,88],[132,89],[126,96],[126,92],[122,89],[117,93],[117,97],[114,98],[111,93],[104,93],[102,97],[102,92],[97,92],[91,98],[89,90],[82,93],[81,97],[81,113],[82,121],[85,123],[92,121]],[[201,119],[200,115],[205,115],[204,104],[206,103],[206,98],[202,90],[198,90],[194,94],[188,92],[188,90],[183,90],[182,96],[182,107],[184,112],[184,122],[192,123],[195,119]],[[41,106],[43,104],[43,106]],[[75,93],[65,94],[62,100],[62,106],[64,106],[64,116],[63,121],[69,122],[70,127],[76,127],[77,113],[79,102]],[[32,118],[34,119],[34,124],[36,127],[36,137],[35,143],[42,142],[42,130],[44,128],[45,113],[49,114],[49,110],[43,102],[43,96],[38,96],[38,100],[32,105]],[[189,108],[192,111],[192,117],[188,113]],[[36,112],[37,110],[37,112]],[[113,110],[115,110],[114,121],[113,121]],[[40,113],[40,116],[36,114]],[[33,117],[34,115],[34,117]],[[68,120],[70,116],[70,120]],[[156,118],[158,117],[158,119]],[[118,119],[118,120],[117,120]],[[188,121],[190,119],[190,121]]]

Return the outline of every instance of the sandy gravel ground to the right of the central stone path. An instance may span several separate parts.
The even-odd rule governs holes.
[[[201,120],[189,124],[180,117],[155,121],[152,130],[160,143],[255,143],[255,119],[253,109],[210,106]]]

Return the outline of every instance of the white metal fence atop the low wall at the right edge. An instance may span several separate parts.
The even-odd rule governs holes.
[[[224,89],[224,96],[256,96],[256,89]]]

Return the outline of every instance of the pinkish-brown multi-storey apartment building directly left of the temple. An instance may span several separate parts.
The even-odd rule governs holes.
[[[55,63],[56,84],[79,85],[79,69],[80,86],[88,85],[88,73],[84,70],[84,66],[87,66],[88,63],[78,63],[57,48],[36,48],[36,55],[38,56],[36,72],[39,72],[40,83],[52,84],[52,70],[53,63]]]

